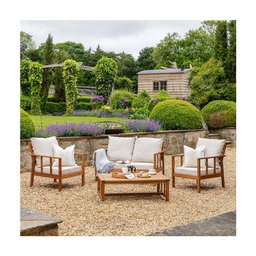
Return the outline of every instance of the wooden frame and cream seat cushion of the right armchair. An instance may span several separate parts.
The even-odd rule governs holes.
[[[207,139],[204,139],[207,140]],[[208,139],[211,140],[211,139]],[[197,192],[200,193],[201,180],[203,179],[211,179],[216,177],[221,177],[221,185],[222,188],[225,188],[225,180],[224,180],[224,168],[223,168],[223,158],[225,157],[225,150],[230,141],[226,141],[221,154],[218,156],[205,156],[197,159],[197,167],[189,168],[183,167],[183,157],[184,154],[178,154],[172,156],[172,187],[175,188],[175,177],[186,178],[186,179],[194,179],[197,184]],[[180,166],[175,167],[175,158],[180,157]],[[213,159],[213,168],[209,167],[209,160]],[[216,160],[218,161],[216,164]],[[205,168],[200,167],[201,161],[205,161]]]

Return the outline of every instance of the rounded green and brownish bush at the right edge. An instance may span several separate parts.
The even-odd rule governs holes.
[[[211,128],[236,126],[236,102],[213,100],[201,110],[205,123]]]

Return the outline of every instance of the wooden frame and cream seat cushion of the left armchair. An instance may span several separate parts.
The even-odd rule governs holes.
[[[59,191],[61,191],[62,185],[61,180],[82,176],[82,186],[84,186],[84,166],[85,166],[85,154],[75,153],[75,156],[81,156],[82,164],[81,166],[61,166],[61,157],[54,156],[43,156],[40,154],[34,154],[31,142],[28,142],[29,152],[32,158],[31,165],[31,179],[30,187],[33,186],[33,181],[35,176],[47,177],[53,179],[54,182],[59,180]],[[40,157],[40,166],[36,165],[36,157]],[[49,166],[43,166],[44,158],[50,159]],[[52,159],[58,159],[58,166],[52,166]]]

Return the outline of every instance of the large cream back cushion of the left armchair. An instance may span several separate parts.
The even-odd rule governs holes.
[[[34,154],[54,156],[53,145],[58,145],[58,141],[55,136],[50,138],[31,138],[30,140]],[[48,157],[44,157],[43,166],[47,166],[49,164],[50,159]],[[36,157],[36,165],[41,166],[41,157]]]

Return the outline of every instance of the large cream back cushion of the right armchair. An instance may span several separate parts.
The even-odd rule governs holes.
[[[204,156],[220,156],[225,145],[225,140],[214,140],[198,138],[196,148],[204,145]],[[216,159],[216,165],[218,165],[218,159]],[[214,159],[208,159],[208,166],[214,167]]]

